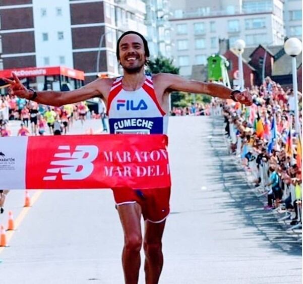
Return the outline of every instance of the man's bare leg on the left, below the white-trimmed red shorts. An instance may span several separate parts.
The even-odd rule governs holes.
[[[122,265],[126,284],[137,284],[140,269],[140,250],[142,247],[141,206],[138,203],[117,206],[124,231]]]

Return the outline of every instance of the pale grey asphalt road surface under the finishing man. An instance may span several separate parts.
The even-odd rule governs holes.
[[[160,283],[301,283],[301,246],[228,156],[222,119],[169,123],[173,186]],[[72,132],[100,125],[77,123]],[[42,191],[27,212],[23,202],[23,191],[8,195],[6,209],[23,220],[0,249],[1,284],[123,283],[123,232],[110,190]]]

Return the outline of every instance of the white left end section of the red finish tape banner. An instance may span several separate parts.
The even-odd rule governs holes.
[[[25,189],[28,137],[0,138],[0,189]]]

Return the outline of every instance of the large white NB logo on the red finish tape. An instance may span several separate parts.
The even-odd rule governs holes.
[[[56,159],[51,161],[50,164],[57,167],[48,168],[46,171],[48,174],[56,175],[45,176],[43,181],[55,181],[58,174],[61,174],[64,181],[84,180],[91,175],[94,170],[92,162],[96,159],[99,152],[97,146],[77,146],[73,153],[70,152],[70,146],[59,146],[58,150],[66,151],[54,154]]]

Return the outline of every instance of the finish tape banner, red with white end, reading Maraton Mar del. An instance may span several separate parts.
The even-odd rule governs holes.
[[[165,135],[0,139],[0,189],[170,187]]]

